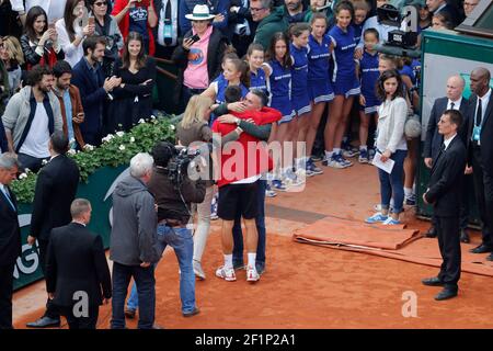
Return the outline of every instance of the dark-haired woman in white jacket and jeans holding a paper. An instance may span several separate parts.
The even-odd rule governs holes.
[[[394,161],[392,171],[378,169],[380,180],[381,212],[367,218],[366,223],[383,223],[398,225],[399,214],[404,202],[404,159],[408,146],[404,136],[404,124],[408,116],[408,104],[404,100],[403,84],[400,73],[392,69],[381,73],[377,82],[377,95],[383,101],[378,110],[377,151],[381,154],[380,160]],[[377,157],[377,156],[376,156]],[[393,197],[393,208],[389,213],[390,199]]]

